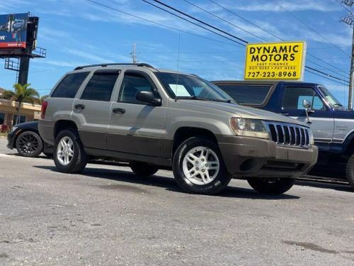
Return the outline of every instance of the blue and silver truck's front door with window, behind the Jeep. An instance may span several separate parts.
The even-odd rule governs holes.
[[[306,111],[302,102],[307,100],[311,103],[312,111],[309,112],[308,123]],[[334,118],[333,113],[322,101],[321,96],[312,87],[288,86],[282,101],[282,113],[307,123],[314,133],[316,145],[322,150],[329,150],[329,145],[333,138]]]

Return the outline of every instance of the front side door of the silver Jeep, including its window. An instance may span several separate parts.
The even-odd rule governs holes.
[[[166,102],[152,106],[136,99],[142,91],[159,93],[149,75],[140,71],[126,71],[118,100],[110,109],[108,150],[120,153],[160,157],[164,135]]]

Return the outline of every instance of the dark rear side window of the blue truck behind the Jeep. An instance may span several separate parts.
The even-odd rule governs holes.
[[[229,94],[238,104],[261,105],[265,101],[271,85],[218,84],[217,87]]]

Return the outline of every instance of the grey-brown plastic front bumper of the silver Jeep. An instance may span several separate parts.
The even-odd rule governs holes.
[[[227,171],[234,177],[292,177],[307,174],[316,164],[318,149],[276,145],[272,140],[219,136]]]

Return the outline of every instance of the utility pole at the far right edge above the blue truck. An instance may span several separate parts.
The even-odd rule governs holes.
[[[349,7],[346,8],[343,6],[345,9],[348,10],[348,15],[345,16],[344,18],[341,18],[341,21],[344,23],[347,23],[351,28],[353,28],[353,33],[352,33],[352,52],[351,52],[351,57],[350,57],[350,83],[349,83],[349,93],[348,93],[348,109],[353,109],[353,90],[354,90],[354,14],[351,11],[352,6],[354,4],[353,0],[342,0],[342,4],[345,4],[346,6]]]

